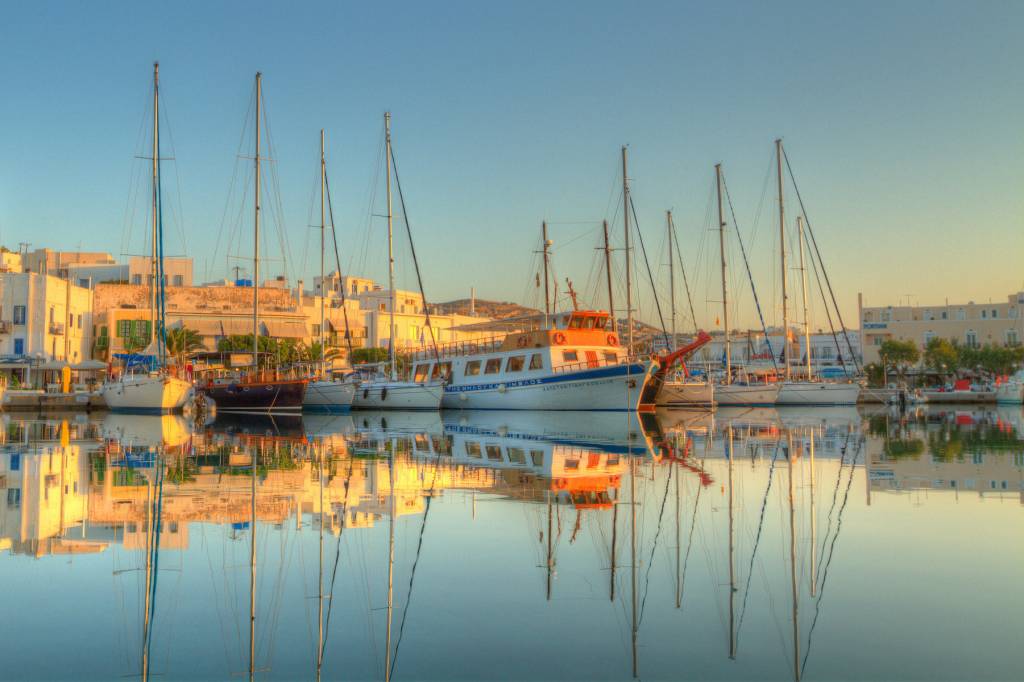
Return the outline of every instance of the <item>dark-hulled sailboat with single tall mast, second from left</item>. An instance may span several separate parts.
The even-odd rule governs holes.
[[[259,370],[259,218],[260,218],[260,108],[262,74],[256,74],[256,183],[253,193],[253,357],[252,372],[210,377],[201,390],[217,404],[218,414],[299,415],[306,393],[304,378],[282,378],[276,371]],[[265,353],[264,353],[265,354]]]

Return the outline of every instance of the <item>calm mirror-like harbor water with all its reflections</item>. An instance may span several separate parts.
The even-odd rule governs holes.
[[[3,420],[3,679],[1024,677],[1019,408]]]

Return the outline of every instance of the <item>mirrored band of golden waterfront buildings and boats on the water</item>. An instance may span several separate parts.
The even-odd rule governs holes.
[[[422,514],[428,498],[454,491],[610,509],[631,458],[678,464],[682,475],[724,489],[726,472],[716,460],[763,461],[787,439],[798,460],[813,439],[818,459],[841,462],[862,439],[868,501],[872,493],[933,489],[1024,504],[1019,409],[904,416],[674,411],[647,423],[593,415],[360,414],[313,418],[285,435],[196,431],[180,418],[4,416],[2,424],[0,548],[35,557],[101,552],[111,544],[145,548],[158,467],[160,549],[187,548],[193,523],[242,527],[251,520],[254,457],[257,522],[315,526],[323,506],[325,529],[336,536],[392,513]]]

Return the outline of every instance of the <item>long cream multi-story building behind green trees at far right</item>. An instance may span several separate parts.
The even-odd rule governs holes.
[[[890,339],[913,341],[924,348],[933,338],[969,347],[1016,346],[1024,341],[1024,292],[997,303],[886,305],[859,303],[864,360],[877,363],[879,347]]]

